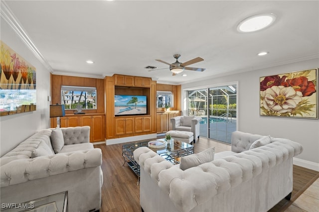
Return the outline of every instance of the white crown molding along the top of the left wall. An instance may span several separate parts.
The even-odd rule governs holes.
[[[34,43],[30,39],[30,37],[27,35],[21,23],[15,17],[10,7],[6,4],[5,1],[2,1],[2,0],[1,0],[1,6],[0,6],[0,16],[13,29],[13,31],[21,38],[24,44],[34,54],[34,56],[52,73],[53,72],[52,67],[42,56],[40,51],[35,47]]]

